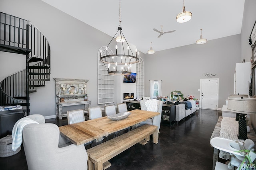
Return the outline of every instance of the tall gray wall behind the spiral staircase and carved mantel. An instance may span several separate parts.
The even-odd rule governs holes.
[[[51,47],[51,81],[30,95],[30,113],[55,115],[55,81],[53,78],[88,79],[89,100],[97,105],[98,49],[112,37],[40,0],[1,0],[0,11],[31,21],[42,31]],[[10,62],[9,56],[12,56]],[[26,57],[0,52],[0,67],[21,70]],[[18,60],[18,61],[17,61]],[[16,62],[17,61],[17,62]],[[22,68],[24,69],[25,66]],[[14,73],[1,70],[4,78]],[[8,70],[7,73],[5,70]],[[12,72],[11,72],[12,71]],[[1,79],[2,80],[2,79]]]

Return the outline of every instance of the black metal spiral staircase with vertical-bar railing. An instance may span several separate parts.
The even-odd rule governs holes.
[[[0,106],[20,105],[29,115],[30,93],[50,81],[49,42],[30,21],[0,12],[0,51],[26,55],[26,68],[0,82]]]

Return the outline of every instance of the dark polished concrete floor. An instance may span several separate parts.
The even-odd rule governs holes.
[[[150,138],[144,146],[134,145],[110,159],[112,166],[107,170],[212,170],[210,137],[220,115],[221,111],[200,109],[178,126],[161,124],[158,144]],[[46,123],[62,126],[67,119]],[[0,158],[0,170],[27,169],[23,147],[16,155]]]

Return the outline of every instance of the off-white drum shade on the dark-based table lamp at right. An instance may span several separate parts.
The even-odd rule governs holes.
[[[228,109],[242,114],[256,114],[256,98],[228,98]]]

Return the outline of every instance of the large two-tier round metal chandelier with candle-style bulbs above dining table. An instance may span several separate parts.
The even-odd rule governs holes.
[[[114,37],[111,39],[110,43],[113,41],[116,35],[118,35],[115,39],[117,43],[120,43],[121,50],[118,50],[118,45],[116,45],[116,53],[110,54],[108,53],[110,47],[110,43],[106,46],[106,48],[102,51],[100,49],[100,61],[104,64],[106,70],[108,71],[108,74],[111,75],[128,75],[132,72],[132,64],[138,63],[140,58],[140,53],[135,50],[135,55],[132,52],[132,49],[130,49],[130,46],[128,42],[126,41],[124,34],[122,33],[122,27],[121,27],[121,0],[119,0],[119,27],[117,28],[118,31],[114,35]],[[127,50],[124,50],[124,43],[127,44]]]

